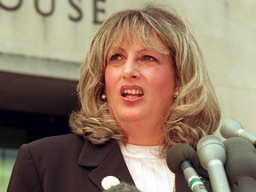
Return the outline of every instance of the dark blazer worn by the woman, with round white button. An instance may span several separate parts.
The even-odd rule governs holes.
[[[109,175],[134,185],[116,140],[92,145],[76,134],[53,136],[20,147],[7,191],[100,192]],[[190,191],[181,174],[175,185],[177,192]]]

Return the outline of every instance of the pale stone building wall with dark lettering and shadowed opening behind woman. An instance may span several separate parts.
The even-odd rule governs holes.
[[[79,67],[100,23],[146,2],[0,0],[0,192],[22,143],[70,132]],[[220,100],[221,121],[234,118],[255,134],[256,1],[154,2],[188,20]]]

